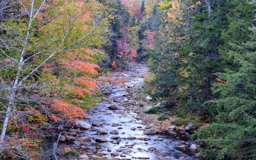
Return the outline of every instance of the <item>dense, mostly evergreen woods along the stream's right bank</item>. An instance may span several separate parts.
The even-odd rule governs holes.
[[[206,159],[255,158],[255,7],[248,0],[160,3],[148,50],[152,85],[183,124],[201,125],[192,138]]]

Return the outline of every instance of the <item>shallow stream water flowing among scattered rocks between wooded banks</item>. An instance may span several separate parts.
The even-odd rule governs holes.
[[[147,71],[148,68],[146,67],[146,64],[133,64],[132,70],[118,72],[118,77],[126,77],[126,86],[129,84],[141,85],[143,84],[142,77]],[[121,84],[111,85],[109,89],[111,94],[106,96],[106,98],[108,98],[110,101],[102,101],[98,106],[95,106],[93,109],[87,111],[87,113],[90,115],[90,119],[86,120],[88,124],[92,124],[93,121],[97,121],[104,123],[104,125],[100,127],[95,126],[84,131],[84,136],[90,136],[92,138],[106,138],[108,142],[98,143],[92,140],[88,145],[86,145],[85,150],[93,151],[94,154],[100,153],[101,157],[107,159],[120,158],[128,160],[129,158],[139,158],[150,160],[196,160],[196,158],[192,156],[193,153],[190,150],[186,151],[176,147],[177,145],[180,145],[181,140],[186,141],[186,144],[191,144],[188,138],[188,133],[178,131],[163,131],[160,132],[160,134],[148,136],[143,134],[143,129],[146,126],[142,125],[140,120],[136,120],[137,113],[130,110],[108,110],[107,107],[113,103],[121,104],[125,98],[123,94],[126,94],[126,90]],[[113,100],[115,100],[115,102],[112,102]],[[112,126],[113,123],[118,123],[118,126]],[[132,127],[135,127],[136,130],[131,130]],[[97,135],[96,131],[98,129],[107,130],[108,134]],[[113,142],[110,142],[110,137],[114,135],[110,134],[110,131],[112,130],[118,130],[118,136],[121,138],[119,144],[113,144]],[[134,136],[136,139],[126,139],[129,136]],[[145,141],[142,139],[144,137],[150,137],[150,140]],[[114,143],[116,143],[115,140]],[[79,144],[80,142],[75,141],[74,145]],[[110,153],[116,152],[116,150],[120,147],[122,152],[117,152],[118,156],[110,155]],[[154,150],[153,152],[150,151],[150,149],[148,150],[148,148],[152,147],[155,148],[152,149]],[[157,152],[156,150],[162,152]]]

